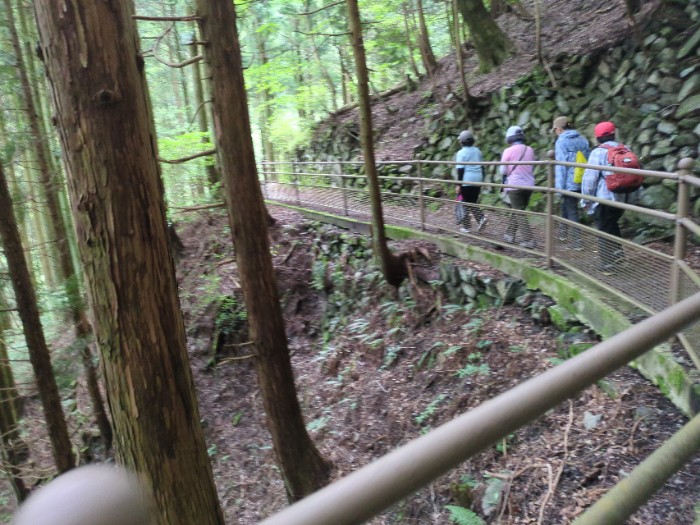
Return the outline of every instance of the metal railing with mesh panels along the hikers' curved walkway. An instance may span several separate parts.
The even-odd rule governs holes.
[[[553,155],[550,153],[550,159]],[[522,257],[543,261],[548,268],[566,269],[585,278],[592,284],[604,287],[620,298],[632,303],[648,314],[662,311],[669,305],[700,291],[700,275],[688,258],[689,240],[700,238],[700,225],[689,216],[691,190],[700,192],[700,178],[691,174],[692,159],[679,162],[676,173],[649,170],[623,170],[611,166],[589,166],[574,162],[554,160],[509,162],[508,165],[534,165],[543,185],[527,187],[532,190],[531,208],[539,211],[511,210],[496,199],[483,195],[496,195],[504,187],[523,188],[496,182],[474,183],[482,187],[482,201],[490,204],[477,206],[488,221],[478,232],[462,232],[455,221],[455,188],[460,184],[444,178],[425,177],[429,171],[450,173],[456,163],[441,161],[392,161],[379,162],[380,172],[394,175],[379,177],[382,187],[384,219],[387,224],[408,226],[424,231],[463,236],[469,242],[485,246],[499,246],[518,252]],[[466,163],[484,166],[485,170],[497,168],[500,162]],[[554,166],[582,166],[607,171],[628,171],[648,178],[664,180],[664,187],[672,191],[675,185],[675,211],[656,210],[623,202],[613,202],[597,197],[590,201],[625,210],[623,223],[635,217],[649,228],[671,230],[673,244],[668,242],[635,242],[617,238],[598,231],[594,226],[561,218],[557,213],[556,195],[580,198],[581,194],[554,188]],[[299,207],[340,214],[354,219],[368,219],[371,214],[366,176],[361,173],[360,162],[295,162],[263,163],[265,198]],[[417,176],[404,176],[406,171]],[[432,175],[432,173],[430,173]],[[500,176],[498,176],[500,179]],[[533,234],[532,245],[506,240],[509,222],[515,216],[525,217]],[[604,243],[619,246],[624,259],[615,265],[614,273],[600,264],[599,248]],[[679,340],[688,352],[690,360],[700,369],[700,325],[682,334]]]

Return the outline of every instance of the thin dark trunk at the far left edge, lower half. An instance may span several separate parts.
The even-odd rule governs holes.
[[[0,289],[0,309],[7,308],[7,301]],[[5,470],[8,481],[22,502],[29,495],[29,489],[21,477],[20,467],[23,455],[27,452],[27,444],[19,434],[19,419],[17,407],[20,405],[19,393],[12,374],[10,357],[5,344],[5,330],[10,327],[8,314],[0,312],[0,433],[2,433],[2,452],[5,460]]]

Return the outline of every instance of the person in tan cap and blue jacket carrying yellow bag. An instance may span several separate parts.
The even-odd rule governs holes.
[[[588,139],[573,129],[567,117],[557,117],[552,123],[552,133],[557,136],[554,144],[554,158],[563,162],[586,162],[591,153]],[[579,154],[580,153],[580,154]],[[558,190],[581,191],[580,177],[583,168],[554,166],[554,187]],[[577,177],[578,175],[578,177]],[[579,222],[577,197],[561,196],[560,213],[562,219]],[[578,228],[568,228],[566,223],[559,227],[559,240],[567,240],[571,231],[571,245],[574,250],[581,250],[581,232]]]

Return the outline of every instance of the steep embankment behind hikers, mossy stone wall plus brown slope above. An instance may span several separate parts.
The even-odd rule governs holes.
[[[450,160],[456,136],[466,127],[475,131],[484,157],[495,159],[512,124],[524,128],[545,158],[552,148],[552,120],[561,114],[573,118],[588,136],[596,122],[615,121],[621,140],[639,152],[649,169],[670,171],[681,157],[697,158],[700,2],[646,2],[637,15],[638,30],[625,17],[622,0],[544,4],[542,46],[556,87],[537,62],[534,21],[504,15],[499,24],[517,53],[498,70],[477,75],[477,59],[469,52],[465,66],[472,72],[474,97],[469,114],[454,94],[459,81],[453,57],[443,59],[435,77],[422,79],[415,91],[375,100],[378,160]],[[356,109],[331,116],[316,130],[306,159],[358,158],[357,128]],[[393,166],[382,174],[412,172],[406,166],[397,173]],[[436,167],[431,175],[448,177],[449,169]],[[647,206],[675,205],[675,191],[661,184],[645,194]],[[697,199],[695,213],[700,214]]]

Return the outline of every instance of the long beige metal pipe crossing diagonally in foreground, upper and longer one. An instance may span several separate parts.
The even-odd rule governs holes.
[[[698,319],[700,293],[482,403],[261,523],[362,523]]]

